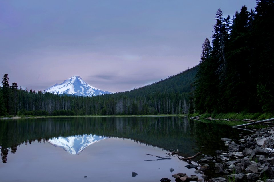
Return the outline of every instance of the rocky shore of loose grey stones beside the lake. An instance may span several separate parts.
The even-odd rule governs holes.
[[[274,182],[274,127],[251,131],[240,140],[222,138],[227,151],[216,156],[205,155],[198,161],[204,181],[208,182]],[[207,173],[215,173],[209,179]],[[175,181],[201,181],[198,177],[174,174]],[[160,181],[170,180],[167,178]],[[171,180],[170,180],[171,181]]]

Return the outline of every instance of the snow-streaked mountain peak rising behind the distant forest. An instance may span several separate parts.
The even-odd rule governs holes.
[[[80,76],[72,76],[61,84],[55,84],[45,90],[53,94],[73,94],[77,96],[97,96],[111,94],[87,84]]]

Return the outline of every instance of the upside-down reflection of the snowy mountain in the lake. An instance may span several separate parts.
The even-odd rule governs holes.
[[[103,140],[107,137],[98,136],[98,135],[74,135],[70,137],[54,137],[49,139],[48,142],[54,146],[58,146],[63,148],[65,151],[69,152],[70,154],[79,154],[82,152],[86,147]]]

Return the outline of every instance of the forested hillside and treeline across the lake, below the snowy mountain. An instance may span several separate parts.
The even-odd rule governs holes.
[[[147,115],[188,113],[191,83],[197,67],[131,91],[102,96],[54,95],[10,86],[8,74],[0,87],[0,115]],[[189,99],[190,98],[190,99]]]

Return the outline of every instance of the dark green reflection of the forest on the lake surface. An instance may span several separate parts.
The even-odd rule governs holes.
[[[53,137],[83,134],[132,139],[165,150],[178,149],[181,155],[192,156],[199,151],[215,151],[212,146],[209,150],[201,146],[219,140],[223,133],[229,133],[227,128],[179,117],[75,117],[1,121],[1,158],[2,162],[6,162],[9,149],[15,153],[17,146],[23,143],[27,145],[35,140],[45,142]],[[208,135],[209,132],[213,133]],[[231,134],[235,135],[233,132]]]

